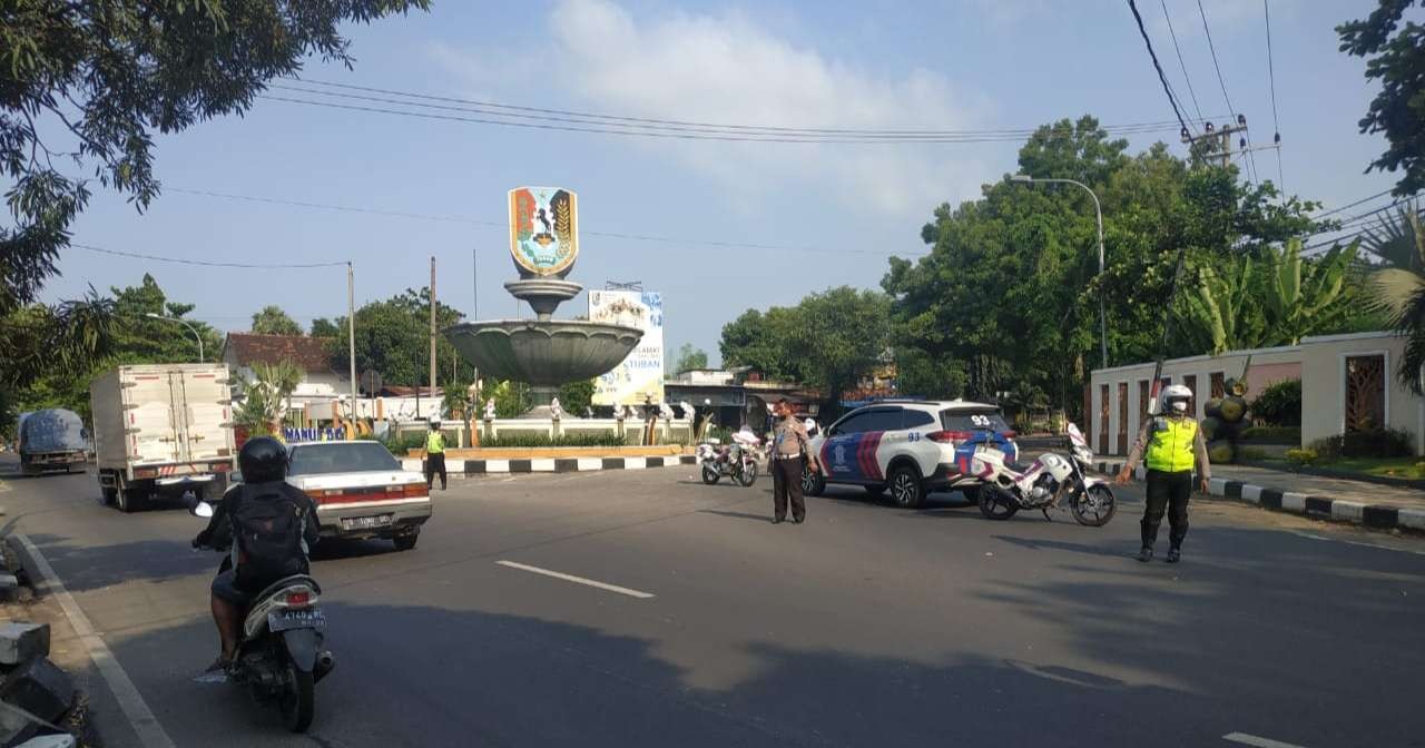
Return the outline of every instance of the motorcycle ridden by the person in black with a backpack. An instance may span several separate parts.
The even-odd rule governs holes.
[[[212,506],[191,500],[195,517],[212,517]],[[224,549],[211,549],[224,550]],[[224,559],[219,573],[232,567]],[[245,685],[258,704],[276,705],[292,732],[305,732],[315,714],[314,687],[335,667],[322,648],[326,615],[316,607],[322,587],[306,574],[281,578],[252,600],[242,621],[242,640],[225,680]]]

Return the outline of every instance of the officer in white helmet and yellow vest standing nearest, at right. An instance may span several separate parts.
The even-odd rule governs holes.
[[[1123,484],[1129,482],[1140,462],[1149,467],[1147,506],[1141,523],[1143,549],[1139,550],[1139,560],[1144,563],[1153,560],[1153,544],[1157,541],[1164,509],[1168,523],[1167,561],[1176,564],[1183,557],[1187,500],[1193,494],[1193,467],[1197,467],[1204,493],[1211,479],[1203,429],[1188,413],[1191,402],[1193,390],[1183,385],[1163,389],[1163,407],[1139,429],[1139,439],[1129,452],[1129,462],[1117,477],[1117,483]]]

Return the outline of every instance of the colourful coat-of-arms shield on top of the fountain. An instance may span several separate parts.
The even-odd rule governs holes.
[[[557,187],[510,189],[510,254],[530,275],[563,276],[579,256],[579,205]]]

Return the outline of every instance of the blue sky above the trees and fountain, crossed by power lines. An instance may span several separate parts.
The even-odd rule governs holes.
[[[1394,184],[1389,174],[1362,174],[1384,150],[1382,138],[1357,127],[1377,85],[1365,80],[1362,60],[1337,50],[1332,30],[1374,6],[1270,0],[1281,182],[1327,208]],[[1254,144],[1268,144],[1263,4],[1204,0],[1221,83],[1196,0],[1140,0],[1139,9],[1187,114],[1200,110],[1224,121],[1226,87]],[[429,14],[346,31],[353,70],[314,58],[304,78],[798,128],[1032,130],[1083,114],[1104,125],[1173,120],[1124,1],[436,0]],[[1130,135],[1130,150],[1154,140],[1184,154],[1176,124]],[[74,225],[76,242],[219,262],[351,259],[358,306],[426,285],[435,256],[436,292],[446,303],[479,319],[530,316],[502,288],[516,278],[503,228],[506,194],[520,185],[564,187],[579,194],[583,232],[569,279],[586,288],[641,281],[663,292],[667,349],[693,343],[715,363],[721,326],[747,308],[792,305],[838,285],[878,288],[888,256],[925,254],[921,227],[933,208],[975,199],[983,184],[1012,174],[1022,140],[722,142],[259,100],[244,117],[155,142],[164,194],[140,214],[95,189]],[[1257,152],[1255,164],[1260,178],[1277,181],[1274,152]],[[227,331],[247,329],[266,303],[304,326],[346,313],[345,268],[214,269],[70,248],[60,271],[47,299],[74,298],[90,285],[135,285],[150,272],[171,301],[197,305],[190,316]],[[559,315],[586,312],[581,295]]]

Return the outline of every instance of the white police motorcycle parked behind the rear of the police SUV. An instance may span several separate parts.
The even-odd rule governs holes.
[[[1069,442],[1073,449],[1067,457],[1046,453],[1023,469],[1005,462],[1005,453],[996,449],[978,452],[970,470],[983,480],[980,513],[992,520],[1007,520],[1020,509],[1037,509],[1050,519],[1050,509],[1067,509],[1079,524],[1109,524],[1117,502],[1107,480],[1089,476],[1093,450],[1073,423],[1069,425]]]

